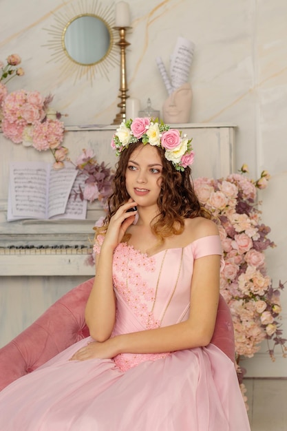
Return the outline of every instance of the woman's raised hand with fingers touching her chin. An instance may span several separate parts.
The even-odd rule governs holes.
[[[136,207],[136,202],[130,198],[128,202],[121,205],[118,211],[111,217],[102,248],[109,246],[111,249],[115,249],[121,242],[127,228],[135,220],[136,211],[129,211],[133,207]]]

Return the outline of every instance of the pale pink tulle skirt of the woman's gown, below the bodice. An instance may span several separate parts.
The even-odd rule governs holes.
[[[1,431],[248,431],[234,364],[217,347],[123,372],[69,361],[83,339],[0,392]]]

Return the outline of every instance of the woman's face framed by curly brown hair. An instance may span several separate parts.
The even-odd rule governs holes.
[[[161,183],[162,161],[157,149],[149,144],[136,148],[131,153],[125,174],[129,196],[138,206],[156,205]]]

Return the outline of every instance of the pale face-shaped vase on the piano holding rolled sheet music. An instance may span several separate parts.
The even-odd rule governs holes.
[[[162,108],[164,123],[189,123],[191,100],[191,85],[184,83],[164,102]]]

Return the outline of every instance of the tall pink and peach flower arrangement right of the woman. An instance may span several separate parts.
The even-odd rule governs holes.
[[[257,189],[264,189],[270,178],[263,171],[257,181],[246,178],[244,165],[240,174],[226,179],[197,178],[195,191],[200,202],[220,221],[224,251],[220,290],[231,309],[235,330],[237,373],[242,383],[242,357],[253,357],[264,339],[274,361],[274,347],[279,345],[286,357],[286,339],[279,324],[280,291],[274,288],[266,270],[264,251],[275,244],[268,239],[270,228],[261,223],[256,203]],[[273,346],[270,342],[273,341]]]

